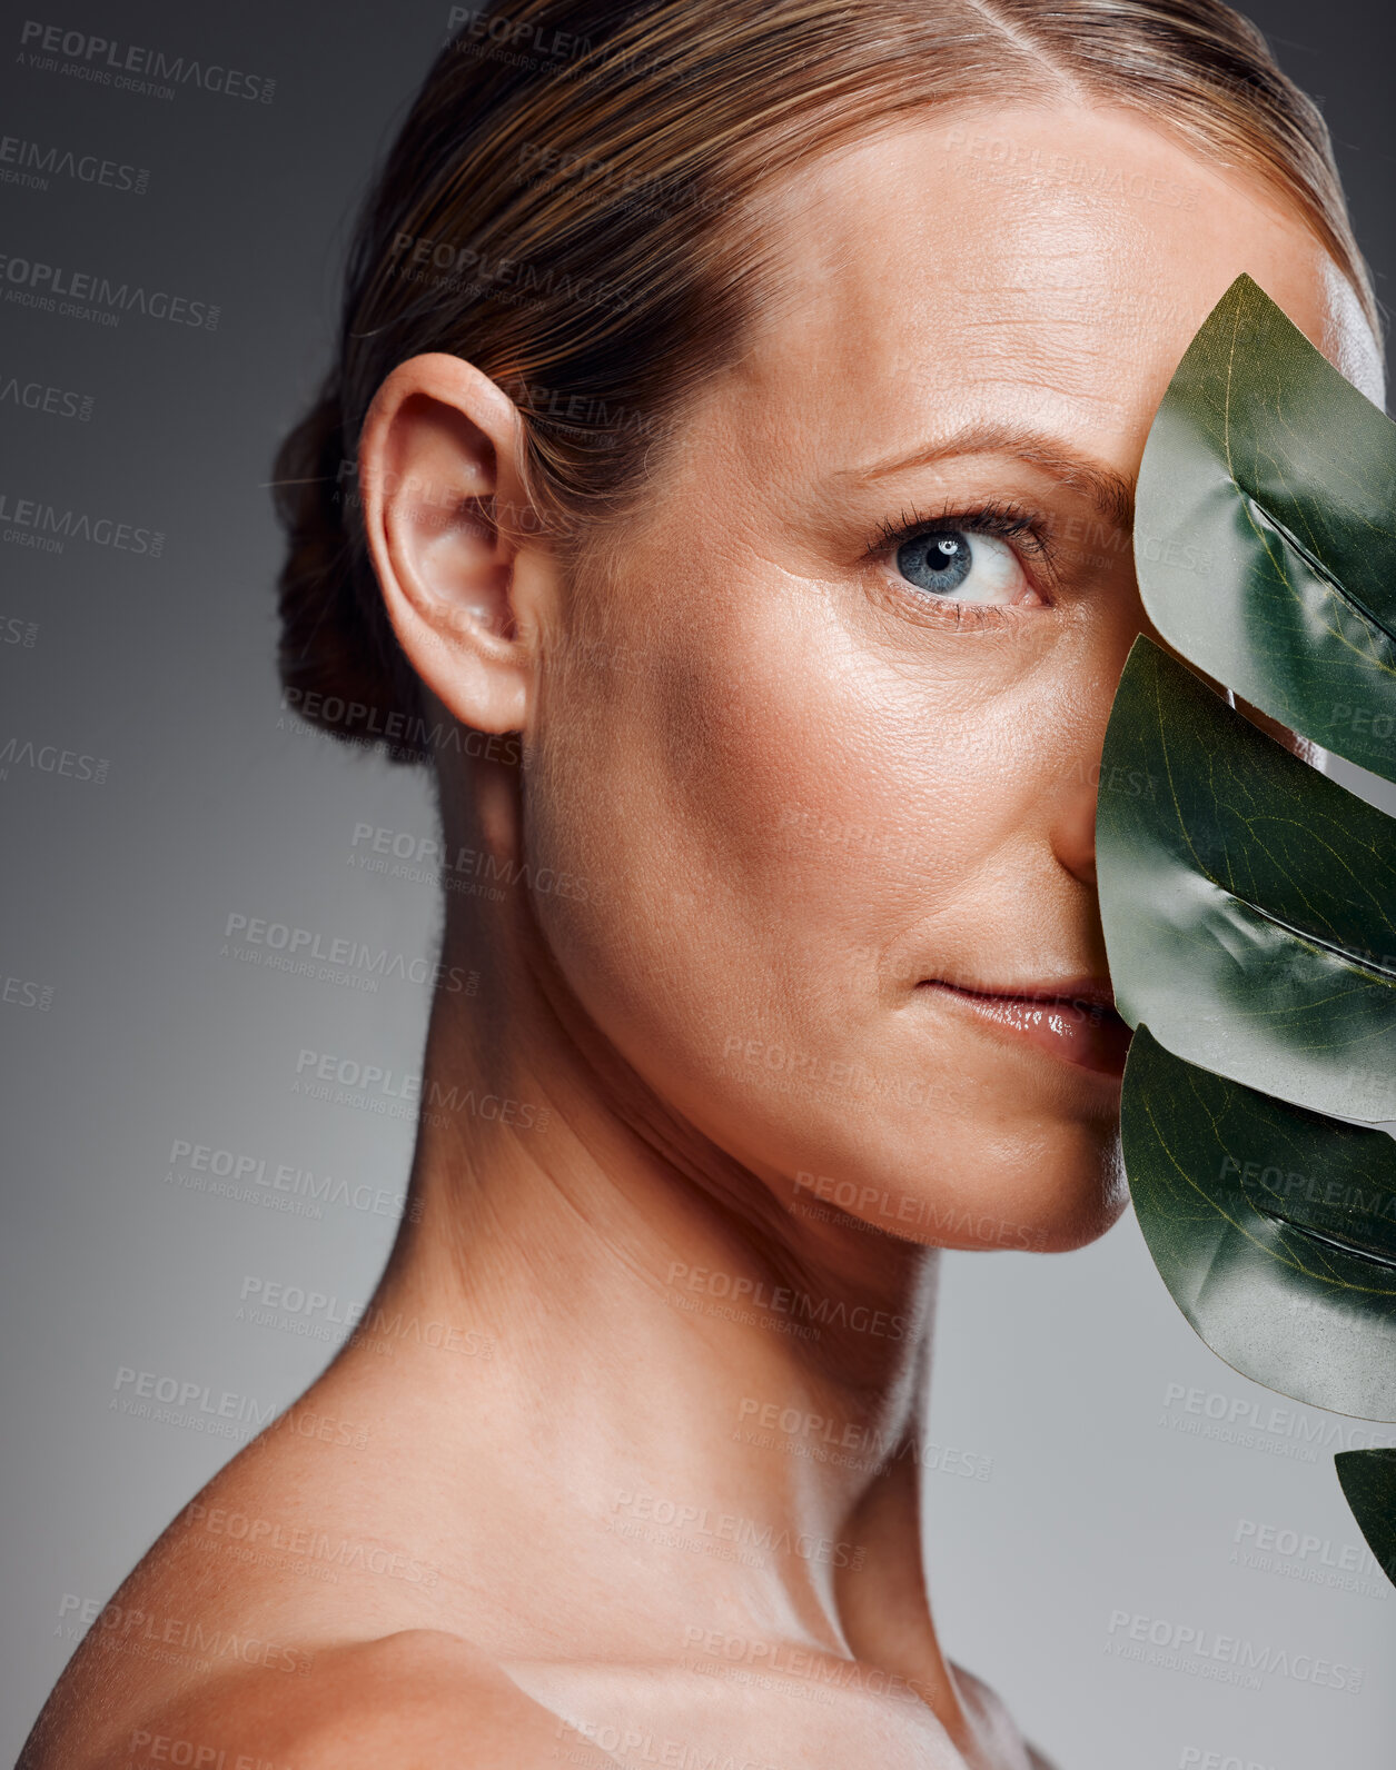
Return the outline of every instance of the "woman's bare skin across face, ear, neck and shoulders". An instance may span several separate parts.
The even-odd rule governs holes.
[[[1033,170],[1061,150],[1120,188]],[[423,1119],[360,1331],[128,1579],[21,1770],[1043,1763],[930,1614],[935,1248],[1121,1209],[1093,1035],[1003,998],[1105,982],[1095,768],[1178,356],[1244,269],[1380,372],[1304,225],[1121,112],[937,117],[769,204],[783,294],[604,577],[494,526],[500,388],[427,356],[379,391],[393,627],[445,715],[524,735],[443,756],[446,841],[570,880],[452,894],[482,981],[425,1073],[531,1124]],[[904,513],[978,543],[957,596],[879,550]]]

